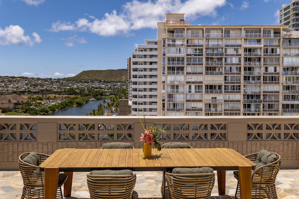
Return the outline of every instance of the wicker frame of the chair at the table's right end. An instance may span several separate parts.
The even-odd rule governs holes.
[[[277,199],[275,180],[281,166],[281,156],[274,152],[271,153],[277,155],[278,160],[259,167],[252,173],[252,199]],[[255,161],[258,154],[259,153],[253,153],[245,157],[251,161]],[[237,172],[234,172],[234,174],[238,180],[235,197],[236,199],[240,199],[239,176]]]

